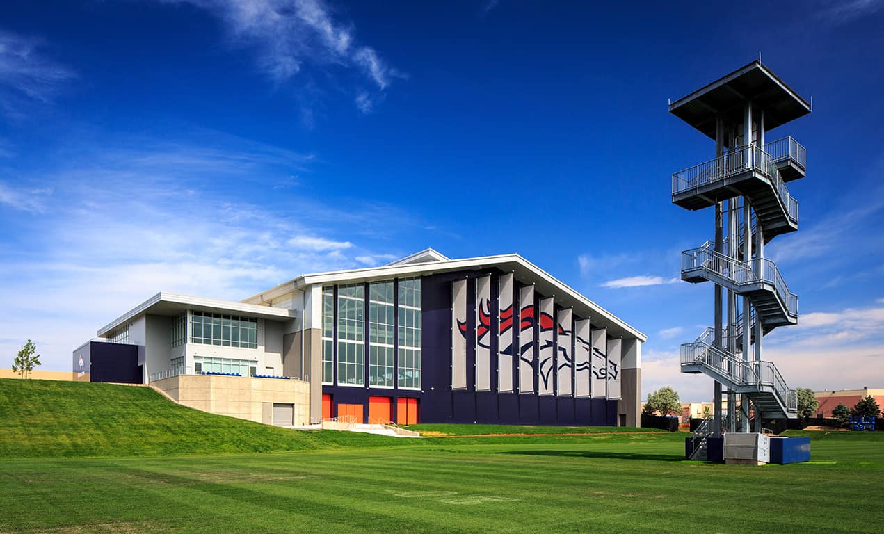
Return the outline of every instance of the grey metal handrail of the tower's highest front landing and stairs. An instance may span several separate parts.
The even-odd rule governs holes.
[[[746,171],[758,171],[770,179],[782,210],[789,219],[798,222],[798,201],[789,195],[789,188],[782,181],[773,156],[754,144],[675,172],[672,175],[672,194],[678,195]]]

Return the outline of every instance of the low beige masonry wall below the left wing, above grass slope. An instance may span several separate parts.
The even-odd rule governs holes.
[[[309,423],[310,385],[301,380],[179,375],[150,385],[190,408],[257,423],[273,423],[274,402],[291,403],[294,424]]]

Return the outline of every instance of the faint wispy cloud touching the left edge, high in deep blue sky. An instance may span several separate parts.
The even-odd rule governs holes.
[[[8,117],[23,118],[31,104],[50,103],[74,77],[69,68],[44,57],[39,44],[0,30],[0,108]]]

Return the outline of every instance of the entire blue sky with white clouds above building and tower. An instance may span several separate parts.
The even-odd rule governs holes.
[[[766,253],[799,324],[791,386],[884,387],[884,1],[5,0],[0,366],[70,370],[159,291],[239,301],[432,247],[518,253],[648,336],[646,395],[712,397],[679,346],[712,323],[679,253],[712,210],[670,175],[714,156],[667,112],[764,63],[812,114],[800,230]]]

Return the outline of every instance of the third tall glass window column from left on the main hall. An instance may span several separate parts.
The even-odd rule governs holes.
[[[369,286],[369,385],[394,385],[392,291],[392,282]]]

